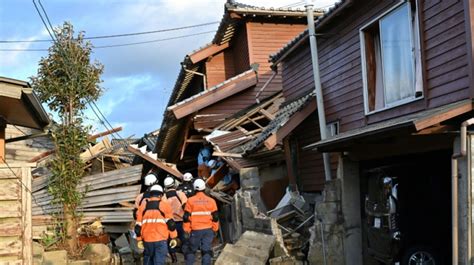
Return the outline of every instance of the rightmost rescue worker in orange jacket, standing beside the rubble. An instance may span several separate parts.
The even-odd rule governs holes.
[[[184,255],[186,264],[194,263],[194,256],[201,248],[202,264],[211,264],[212,240],[219,230],[219,215],[216,201],[204,193],[206,183],[202,179],[194,181],[196,194],[188,199],[184,207],[183,228],[189,244]]]

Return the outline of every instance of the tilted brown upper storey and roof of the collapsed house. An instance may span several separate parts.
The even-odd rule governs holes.
[[[227,125],[228,131],[242,134],[244,141],[239,144],[261,133],[281,103],[281,75],[272,71],[268,56],[303,31],[305,23],[301,10],[228,1],[212,42],[186,55],[182,62],[155,147],[158,157],[176,163],[182,171],[193,171],[195,156],[207,142],[203,136],[215,129]],[[249,111],[254,116],[247,117]],[[224,156],[236,146],[219,149],[218,155],[228,158],[236,169],[263,161]],[[281,149],[264,156],[267,164],[284,160]]]

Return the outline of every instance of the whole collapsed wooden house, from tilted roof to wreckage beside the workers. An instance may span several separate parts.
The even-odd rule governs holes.
[[[321,11],[315,11],[315,16],[320,15]],[[150,152],[140,144],[129,149],[146,156],[149,163],[144,164],[145,171],[154,165],[162,169],[159,172],[164,178],[173,174],[170,167],[196,176],[201,150],[211,148],[212,158],[221,164],[207,179],[208,186],[220,201],[222,215],[233,216],[222,224],[227,242],[239,234],[239,228],[233,226],[238,226],[242,215],[235,208],[248,205],[248,201],[236,203],[235,196],[230,196],[241,181],[244,188],[251,186],[258,191],[260,214],[275,208],[291,183],[291,166],[287,166],[291,154],[285,150],[284,139],[311,116],[316,104],[310,95],[285,100],[281,73],[271,67],[268,58],[305,28],[304,11],[227,1],[213,41],[187,54],[181,63],[155,148]],[[242,179],[241,171],[249,168],[257,170],[257,180]],[[223,187],[220,184],[226,177],[231,182]],[[308,191],[321,189],[317,183]],[[302,218],[308,220],[305,214]]]

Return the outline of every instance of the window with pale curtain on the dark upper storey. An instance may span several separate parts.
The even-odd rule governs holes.
[[[366,112],[422,96],[416,5],[405,2],[361,30]]]

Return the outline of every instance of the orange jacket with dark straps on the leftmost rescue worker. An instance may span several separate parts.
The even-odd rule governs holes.
[[[152,207],[156,205],[159,206],[159,209]],[[145,199],[137,212],[137,225],[141,227],[138,240],[158,242],[168,240],[168,238],[176,238],[178,233],[176,229],[169,230],[169,220],[173,221],[173,211],[166,200],[159,197]]]

